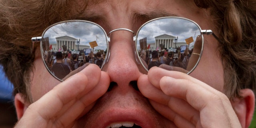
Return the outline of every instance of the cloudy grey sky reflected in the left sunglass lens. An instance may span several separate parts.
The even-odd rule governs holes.
[[[45,37],[49,37],[50,44],[56,44],[56,37],[70,36],[80,39],[80,44],[90,46],[89,42],[96,41],[98,46],[94,49],[106,50],[107,42],[104,31],[97,25],[90,22],[66,22],[49,28]]]

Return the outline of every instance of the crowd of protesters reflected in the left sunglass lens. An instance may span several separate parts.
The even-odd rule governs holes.
[[[73,70],[83,66],[86,63],[97,64],[99,67],[104,62],[105,53],[97,52],[96,54],[84,53],[72,54],[71,51],[66,52],[44,52],[44,60],[52,74],[59,79],[63,79]]]

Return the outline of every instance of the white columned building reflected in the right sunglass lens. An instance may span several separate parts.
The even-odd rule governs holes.
[[[154,43],[148,43],[150,44],[150,49],[156,50],[157,47],[160,48],[160,44],[164,45],[164,48],[170,49],[170,48],[175,48],[175,42],[174,42],[174,36],[170,36],[168,34],[163,34],[160,36],[155,37],[155,42]],[[187,45],[186,42],[176,42],[176,48],[182,46],[182,45]]]

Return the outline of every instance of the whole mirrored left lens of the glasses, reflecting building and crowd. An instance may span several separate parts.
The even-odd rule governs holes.
[[[62,81],[88,62],[102,68],[108,53],[106,32],[92,22],[60,22],[44,31],[41,52],[48,71]]]

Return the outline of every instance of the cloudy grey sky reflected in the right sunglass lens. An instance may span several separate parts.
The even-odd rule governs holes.
[[[200,34],[200,29],[196,24],[189,20],[180,18],[163,18],[153,20],[144,25],[138,32],[138,40],[147,38],[147,43],[155,42],[155,37],[162,34],[168,34],[170,36],[178,36],[177,42],[186,42],[185,39]],[[137,46],[139,43],[137,43]]]

